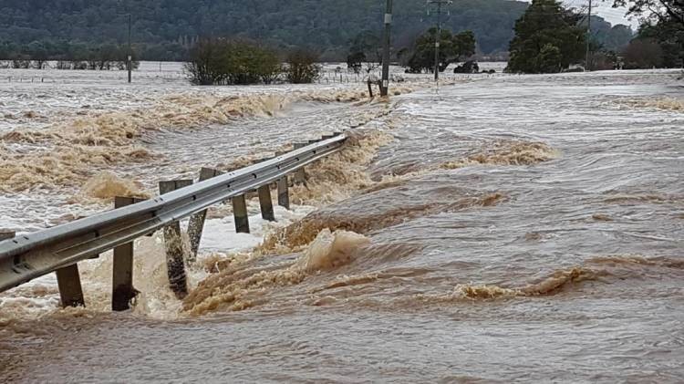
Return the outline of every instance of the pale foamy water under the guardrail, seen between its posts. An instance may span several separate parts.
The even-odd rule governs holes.
[[[215,254],[249,252],[262,243],[264,235],[301,219],[315,208],[293,205],[291,210],[275,205],[276,222],[261,217],[257,199],[248,202],[250,234],[235,233],[233,214],[209,219],[204,224],[202,242],[195,263],[186,267],[188,285],[199,284],[209,273],[206,260]],[[187,220],[181,223],[187,228]],[[109,311],[111,305],[112,253],[78,264],[87,310]],[[142,237],[135,242],[133,285],[140,291],[132,311],[145,317],[175,318],[181,314],[181,301],[171,292],[166,275],[166,257],[161,231],[153,237]],[[7,318],[36,318],[60,308],[57,276],[48,274],[0,294],[0,320]]]

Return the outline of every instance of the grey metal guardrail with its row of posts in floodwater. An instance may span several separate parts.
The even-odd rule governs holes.
[[[277,183],[278,203],[289,205],[288,175],[302,180],[302,170],[306,165],[340,150],[345,140],[345,136],[339,136],[315,140],[309,145],[297,145],[294,150],[276,155],[273,159],[223,174],[214,172],[214,177],[196,184],[192,184],[192,181],[161,183],[160,196],[34,233],[12,237],[0,230],[0,292],[57,272],[62,304],[83,306],[85,301],[78,263],[116,249],[115,271],[112,272],[112,305],[117,302],[117,308],[122,308],[123,305],[119,306],[119,303],[128,300],[125,303],[130,306],[130,296],[136,293],[130,284],[133,260],[130,244],[142,236],[163,230],[171,289],[182,297],[187,292],[184,256],[186,251],[190,253],[191,247],[181,241],[181,220],[231,199],[237,231],[248,232],[246,193],[264,191],[264,186]],[[193,222],[202,222],[197,219]],[[200,238],[203,225],[195,224],[192,227],[194,229],[189,229],[192,238]],[[196,252],[199,242],[193,244],[192,251]],[[126,295],[119,296],[116,291],[118,285],[126,286]]]

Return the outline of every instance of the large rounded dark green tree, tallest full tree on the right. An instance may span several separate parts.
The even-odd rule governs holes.
[[[515,22],[511,58],[506,70],[513,73],[560,72],[581,62],[586,33],[577,26],[579,19],[555,0],[533,0],[523,17]]]

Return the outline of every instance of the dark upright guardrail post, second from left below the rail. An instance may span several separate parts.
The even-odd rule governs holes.
[[[114,198],[114,208],[125,207],[142,199],[132,197]],[[133,287],[133,242],[114,248],[111,275],[111,310],[125,311],[130,308],[130,300],[138,295]]]

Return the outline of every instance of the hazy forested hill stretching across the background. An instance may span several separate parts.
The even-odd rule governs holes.
[[[425,0],[395,0],[396,46],[435,22]],[[505,51],[528,6],[509,0],[456,0],[442,15],[454,31],[471,29],[483,53]],[[246,36],[275,47],[313,47],[344,57],[349,40],[382,29],[384,0],[0,0],[0,41],[123,43],[133,14],[135,43],[173,50],[194,36]]]

